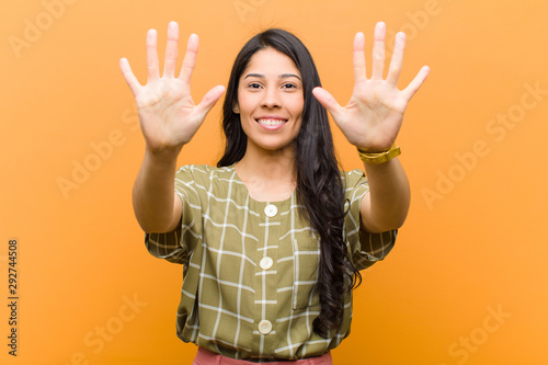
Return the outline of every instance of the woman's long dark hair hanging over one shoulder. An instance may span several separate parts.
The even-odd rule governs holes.
[[[296,195],[301,216],[320,236],[319,289],[321,310],[312,323],[313,330],[328,335],[340,327],[344,294],[359,283],[359,272],[352,265],[343,240],[344,186],[339,172],[327,111],[312,95],[321,87],[316,65],[306,46],[284,30],[271,28],[253,36],[238,54],[222,105],[225,155],[217,167],[226,167],[243,158],[248,138],[240,115],[232,110],[238,104],[238,83],[251,57],[272,47],[288,56],[302,78],[305,107],[300,132],[295,140],[297,170]]]

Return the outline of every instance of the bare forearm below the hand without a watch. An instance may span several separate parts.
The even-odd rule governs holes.
[[[181,204],[174,193],[178,153],[152,153],[148,149],[135,181],[134,212],[146,232],[167,232],[176,228]]]

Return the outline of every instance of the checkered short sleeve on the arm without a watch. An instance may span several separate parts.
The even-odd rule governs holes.
[[[196,181],[196,170],[204,171],[199,167],[185,166],[175,173],[175,193],[183,204],[180,226],[171,232],[145,235],[145,246],[156,258],[185,264],[194,248],[202,241],[199,190],[205,186]]]

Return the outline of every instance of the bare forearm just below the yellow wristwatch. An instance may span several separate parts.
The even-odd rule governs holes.
[[[364,163],[369,194],[362,201],[362,221],[372,232],[397,229],[409,212],[411,193],[398,158],[380,164]]]

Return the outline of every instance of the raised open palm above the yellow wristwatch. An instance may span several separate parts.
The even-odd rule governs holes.
[[[386,80],[383,79],[385,67],[385,23],[377,23],[373,46],[372,77],[367,79],[364,55],[364,34],[354,38],[354,92],[346,106],[341,106],[324,89],[315,88],[312,93],[331,113],[349,141],[364,151],[389,149],[403,121],[403,113],[409,101],[421,88],[429,75],[424,66],[415,78],[403,89],[398,89],[406,35],[398,33],[392,59]]]

